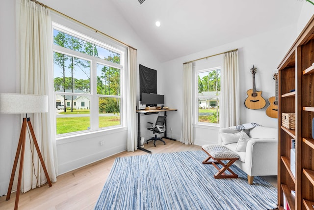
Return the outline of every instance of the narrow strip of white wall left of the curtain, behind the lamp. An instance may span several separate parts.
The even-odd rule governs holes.
[[[12,0],[5,0],[0,6],[0,30],[0,92],[15,92],[15,2]],[[14,119],[14,115],[0,114],[0,196],[7,191],[18,142],[16,132],[21,130],[15,128]]]

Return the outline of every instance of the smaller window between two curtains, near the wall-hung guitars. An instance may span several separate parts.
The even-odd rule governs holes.
[[[196,71],[198,123],[219,124],[220,67]]]

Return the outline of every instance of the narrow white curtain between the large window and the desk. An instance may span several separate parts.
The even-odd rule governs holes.
[[[137,150],[136,127],[136,66],[137,51],[131,47],[128,49],[128,151]]]

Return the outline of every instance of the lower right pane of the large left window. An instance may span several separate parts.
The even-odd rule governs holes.
[[[99,127],[120,124],[120,98],[99,97]]]

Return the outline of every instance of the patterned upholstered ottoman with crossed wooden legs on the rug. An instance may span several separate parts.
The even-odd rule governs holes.
[[[212,164],[218,172],[214,175],[215,179],[224,178],[237,178],[237,175],[229,168],[236,160],[239,159],[239,155],[232,150],[229,150],[223,145],[203,145],[202,150],[205,151],[209,157],[206,158],[203,164]],[[209,159],[212,159],[209,161]],[[222,160],[228,161],[227,164],[223,163]],[[222,168],[217,166],[217,163],[222,165]],[[231,174],[226,174],[228,170]]]

